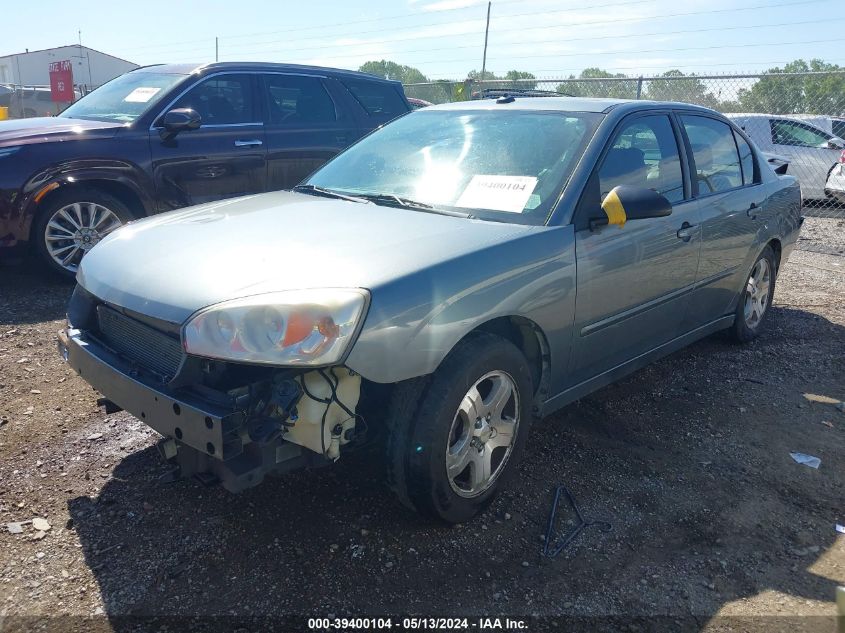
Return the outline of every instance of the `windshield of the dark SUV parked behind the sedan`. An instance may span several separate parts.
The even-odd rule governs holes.
[[[185,75],[126,73],[82,97],[59,116],[131,123],[184,79]]]

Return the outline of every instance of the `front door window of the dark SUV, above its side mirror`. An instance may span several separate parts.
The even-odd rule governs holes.
[[[173,107],[196,110],[203,125],[235,125],[257,121],[253,101],[250,75],[224,75],[194,86]]]

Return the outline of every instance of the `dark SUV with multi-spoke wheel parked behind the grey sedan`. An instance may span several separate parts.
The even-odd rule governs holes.
[[[72,276],[125,222],[289,189],[410,110],[399,82],[352,71],[139,68],[57,117],[0,122],[0,256],[29,244]]]

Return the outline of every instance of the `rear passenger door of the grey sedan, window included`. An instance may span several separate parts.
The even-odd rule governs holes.
[[[751,146],[730,125],[701,114],[681,113],[679,120],[691,150],[692,193],[701,219],[701,259],[687,315],[696,327],[731,310],[766,222],[766,187]]]

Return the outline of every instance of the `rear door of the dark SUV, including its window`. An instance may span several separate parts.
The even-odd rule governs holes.
[[[261,78],[267,134],[268,189],[290,189],[360,136],[348,107],[317,75]]]

